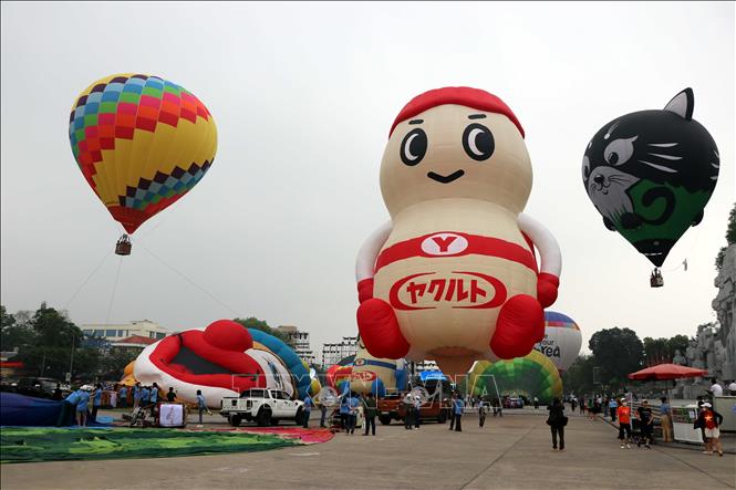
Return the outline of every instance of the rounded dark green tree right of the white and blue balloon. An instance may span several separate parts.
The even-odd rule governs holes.
[[[639,371],[644,358],[644,344],[631,329],[604,329],[588,343],[593,353],[593,367],[601,368],[604,385],[624,386],[629,373]]]

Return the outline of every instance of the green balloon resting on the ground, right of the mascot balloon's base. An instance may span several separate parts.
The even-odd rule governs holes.
[[[473,394],[494,397],[497,396],[496,386],[501,396],[536,396],[542,404],[562,397],[562,379],[557,367],[537,351],[515,359],[493,364],[488,361],[476,363],[468,376],[468,387]]]

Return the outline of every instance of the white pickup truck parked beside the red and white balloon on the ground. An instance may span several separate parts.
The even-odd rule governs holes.
[[[245,419],[256,421],[260,427],[277,425],[279,420],[303,423],[304,403],[291,399],[280,389],[250,388],[240,397],[224,397],[220,402],[220,415],[232,427],[238,427]]]

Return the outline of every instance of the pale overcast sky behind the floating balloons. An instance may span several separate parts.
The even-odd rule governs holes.
[[[83,179],[68,121],[80,91],[123,72],[196,94],[219,148],[121,259],[110,252],[122,227]],[[3,2],[1,76],[11,312],[46,301],[77,324],[110,311],[111,323],[172,330],[255,315],[309,331],[315,353],[353,335],[355,253],[388,218],[379,167],[391,123],[426,90],[468,85],[500,96],[526,131],[526,212],[560,243],[552,309],[576,319],[585,348],[616,325],[643,338],[715,321],[713,263],[735,200],[734,3]],[[589,201],[581,160],[604,123],[686,86],[721,178],[670,253],[665,286],[651,289],[650,262]],[[667,272],[685,258],[687,272]]]

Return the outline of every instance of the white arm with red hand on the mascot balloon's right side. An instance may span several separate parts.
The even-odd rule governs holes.
[[[537,278],[537,299],[543,307],[550,306],[557,300],[562,272],[560,246],[542,223],[528,215],[519,215],[519,229],[531,239],[539,250],[541,265]]]

